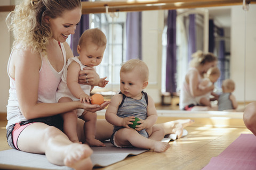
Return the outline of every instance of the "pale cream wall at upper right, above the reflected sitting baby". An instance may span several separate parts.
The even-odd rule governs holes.
[[[234,95],[238,101],[256,101],[256,5],[246,12],[242,6],[231,8],[230,78],[236,83]],[[246,29],[246,34],[245,34]],[[246,36],[245,36],[246,35]],[[246,39],[245,39],[246,38]],[[246,47],[245,47],[246,44]],[[246,55],[245,55],[246,52]],[[245,74],[244,74],[245,57]],[[244,76],[245,75],[245,76]],[[244,84],[245,81],[245,84]],[[245,93],[244,93],[245,90]],[[244,96],[245,94],[245,96]]]

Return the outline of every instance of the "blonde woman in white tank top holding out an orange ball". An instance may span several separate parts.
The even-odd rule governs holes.
[[[55,92],[63,67],[73,57],[66,39],[74,34],[81,18],[80,0],[24,0],[7,16],[14,43],[8,63],[10,96],[7,105],[7,140],[14,149],[45,154],[49,162],[74,169],[91,169],[89,146],[71,142],[61,130],[60,113],[82,108],[96,112],[109,102],[90,105],[79,101],[55,103]],[[80,72],[79,83],[98,84],[93,69]],[[159,124],[165,133],[179,136],[191,120]],[[78,120],[79,141],[85,141],[84,121]],[[97,122],[95,138],[109,139],[113,126],[106,120]]]

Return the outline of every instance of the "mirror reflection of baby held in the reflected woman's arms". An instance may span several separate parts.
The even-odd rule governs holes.
[[[212,86],[220,77],[220,70],[218,67],[211,67],[207,73],[206,78],[204,78],[198,85],[199,89],[204,89],[206,87]],[[211,92],[203,95],[203,96],[197,96],[196,101],[198,104],[203,106],[209,106],[211,107]]]

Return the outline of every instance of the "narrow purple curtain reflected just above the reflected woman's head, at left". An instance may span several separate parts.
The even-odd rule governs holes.
[[[191,55],[196,52],[196,15],[189,14],[188,25],[188,62],[191,60]]]

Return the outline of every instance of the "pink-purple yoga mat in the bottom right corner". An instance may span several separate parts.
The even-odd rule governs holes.
[[[241,134],[221,154],[213,157],[202,170],[211,169],[256,169],[256,137]]]

